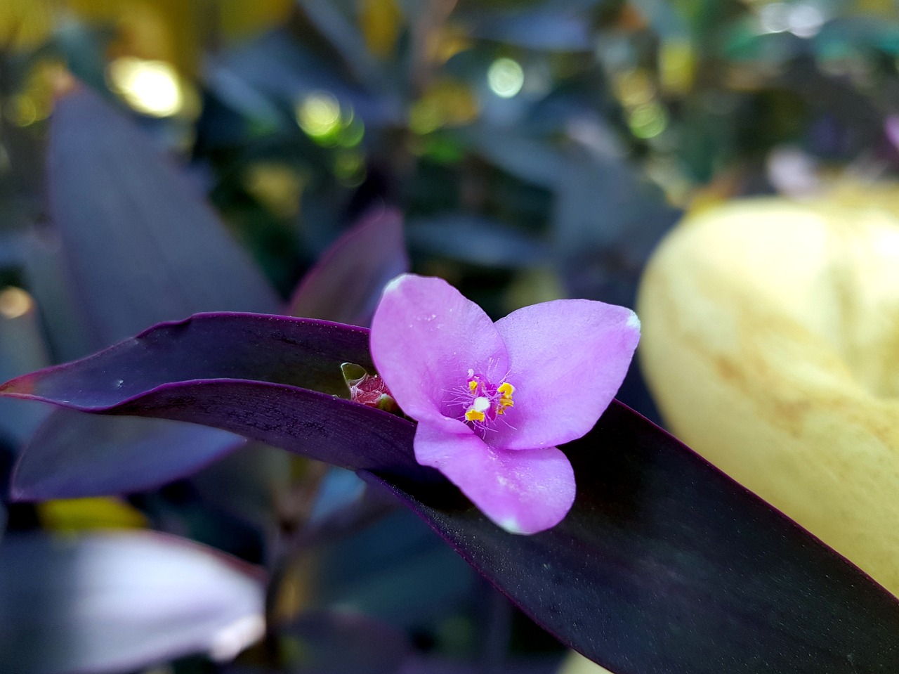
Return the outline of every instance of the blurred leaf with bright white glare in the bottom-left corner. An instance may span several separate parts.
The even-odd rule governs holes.
[[[0,545],[0,652],[15,674],[227,659],[261,636],[262,613],[252,567],[174,536],[8,535]]]

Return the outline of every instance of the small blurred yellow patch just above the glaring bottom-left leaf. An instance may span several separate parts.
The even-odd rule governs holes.
[[[85,529],[142,529],[147,517],[122,499],[55,499],[37,504],[38,517],[52,531]]]

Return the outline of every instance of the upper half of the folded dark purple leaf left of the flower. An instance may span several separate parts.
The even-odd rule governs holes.
[[[73,363],[17,377],[5,391],[91,411],[165,384],[209,379],[289,384],[346,398],[340,368],[345,361],[373,371],[366,328],[268,314],[202,313],[160,323]]]

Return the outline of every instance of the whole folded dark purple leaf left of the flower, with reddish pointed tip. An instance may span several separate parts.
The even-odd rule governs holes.
[[[368,330],[263,314],[198,314],[19,377],[4,391],[80,411],[201,423],[352,470],[435,475],[414,461],[410,422],[334,397],[348,395],[344,360],[373,372]],[[165,461],[165,454],[153,461]],[[34,459],[29,485],[53,480],[48,472],[55,465]],[[132,486],[125,480],[132,470],[127,464],[111,457],[105,467],[110,490]],[[95,480],[79,474],[67,489],[85,479]],[[13,487],[18,493],[28,485],[15,481]]]

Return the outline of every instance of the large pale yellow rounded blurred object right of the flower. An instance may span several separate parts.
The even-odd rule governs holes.
[[[674,434],[899,595],[899,186],[704,209],[637,312]]]

